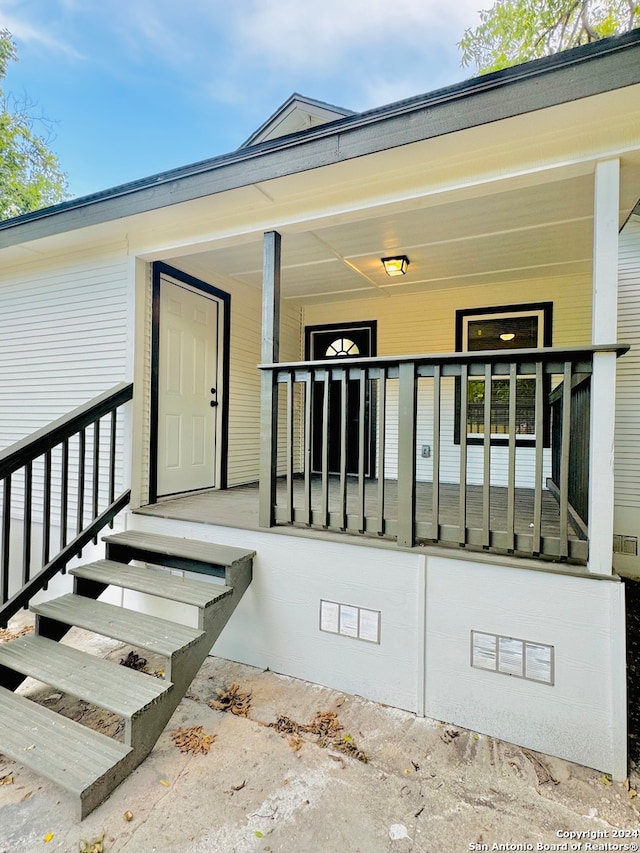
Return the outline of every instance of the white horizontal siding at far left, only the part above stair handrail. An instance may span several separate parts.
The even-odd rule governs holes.
[[[126,378],[127,250],[0,273],[0,447]]]

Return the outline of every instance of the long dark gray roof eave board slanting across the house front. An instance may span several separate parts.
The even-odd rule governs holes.
[[[0,248],[638,83],[640,29],[5,220]]]

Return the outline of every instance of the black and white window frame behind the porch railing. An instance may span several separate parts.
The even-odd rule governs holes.
[[[538,348],[552,346],[552,323],[553,323],[553,302],[529,302],[514,305],[491,305],[481,308],[464,308],[456,311],[456,352],[471,352],[468,349],[468,328],[469,323],[475,320],[482,319],[501,319],[511,317],[530,317],[538,316]],[[517,353],[518,347],[505,347],[506,352]],[[526,377],[523,377],[526,378]],[[551,429],[549,424],[548,407],[549,407],[549,391],[551,377],[543,377],[543,400],[544,400],[544,434],[543,446],[549,447],[551,442]],[[460,444],[461,438],[461,383],[460,379],[456,379],[455,385],[455,415],[454,415],[454,444]],[[485,433],[467,433],[467,445],[484,445],[486,440]],[[509,435],[490,433],[490,444],[492,446],[506,446],[509,444]],[[518,435],[516,436],[516,447],[533,447],[535,445],[535,435]]]

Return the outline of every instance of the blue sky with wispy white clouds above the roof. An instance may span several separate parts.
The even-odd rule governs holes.
[[[0,0],[5,92],[85,195],[237,148],[289,95],[360,111],[455,83],[483,0]]]

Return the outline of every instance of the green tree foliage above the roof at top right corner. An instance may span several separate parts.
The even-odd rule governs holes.
[[[636,0],[497,0],[459,47],[480,74],[640,26]]]

